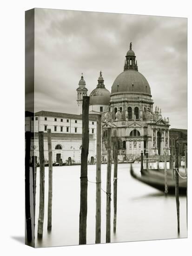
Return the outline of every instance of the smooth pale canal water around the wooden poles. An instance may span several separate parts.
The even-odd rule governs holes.
[[[133,169],[139,174],[139,163]],[[101,188],[106,191],[106,164],[101,165]],[[88,165],[88,180],[95,182],[96,165]],[[37,239],[39,168],[37,168],[35,247],[79,244],[80,166],[53,167],[52,231],[47,232],[48,167],[45,168],[45,218],[42,241]],[[112,165],[113,177],[113,165]],[[87,244],[95,243],[96,184],[88,182]],[[187,237],[186,196],[180,196],[180,235],[174,195],[141,183],[130,175],[130,164],[118,165],[117,229],[113,234],[113,178],[111,242]],[[106,193],[101,191],[101,243],[106,241]]]

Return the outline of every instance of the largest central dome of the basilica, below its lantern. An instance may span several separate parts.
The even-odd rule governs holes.
[[[151,89],[146,78],[137,70],[128,69],[118,75],[113,82],[111,93],[141,93],[151,96]]]

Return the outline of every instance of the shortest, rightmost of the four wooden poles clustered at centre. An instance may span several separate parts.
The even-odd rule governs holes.
[[[113,172],[113,232],[116,233],[117,223],[117,168],[118,168],[118,142],[117,137],[114,137],[113,143],[113,155],[114,155],[114,172]]]

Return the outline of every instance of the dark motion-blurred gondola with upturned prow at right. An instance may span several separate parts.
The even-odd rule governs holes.
[[[136,180],[143,182],[155,189],[159,189],[161,191],[165,191],[165,176],[160,172],[156,171],[146,171],[146,173],[141,176],[134,173],[132,165],[130,168],[130,172],[133,178]],[[154,173],[156,172],[156,173]],[[170,175],[167,175],[167,187],[168,187],[168,194],[175,194],[175,181],[172,179]],[[186,195],[186,188],[187,188],[187,179],[182,179],[179,177],[179,194]]]

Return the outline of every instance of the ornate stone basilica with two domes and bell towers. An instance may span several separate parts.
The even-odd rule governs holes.
[[[87,95],[86,83],[79,81],[78,109],[82,114],[82,97]],[[126,53],[124,71],[113,82],[111,93],[105,88],[100,72],[97,87],[90,94],[90,114],[102,114],[102,157],[106,158],[106,130],[118,137],[118,158],[128,160],[140,155],[163,155],[169,149],[169,118],[163,118],[159,107],[153,110],[151,88],[139,73],[135,53]]]

